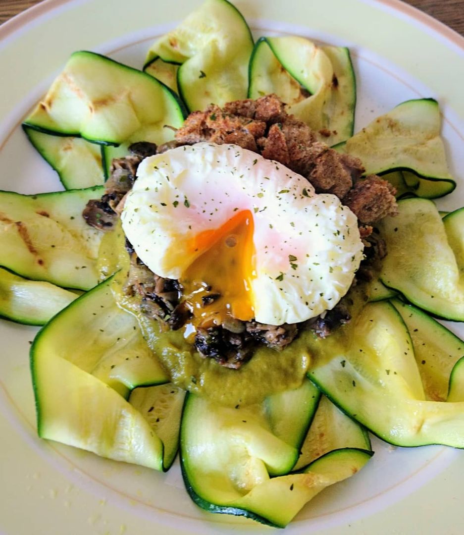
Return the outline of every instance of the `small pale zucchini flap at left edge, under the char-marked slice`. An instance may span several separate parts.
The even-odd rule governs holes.
[[[50,284],[28,280],[0,268],[0,316],[26,325],[44,325],[77,295]]]

